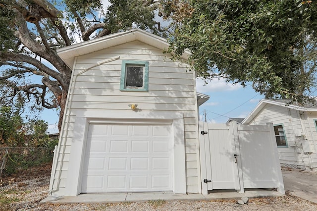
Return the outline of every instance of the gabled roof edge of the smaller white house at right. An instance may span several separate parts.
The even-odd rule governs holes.
[[[317,104],[313,105],[307,103],[306,105],[300,105],[297,103],[289,104],[290,100],[271,100],[271,99],[262,99],[259,104],[249,113],[249,115],[242,121],[242,124],[248,124],[250,121],[259,114],[259,112],[266,106],[267,104],[287,107],[294,110],[300,111],[317,111]]]

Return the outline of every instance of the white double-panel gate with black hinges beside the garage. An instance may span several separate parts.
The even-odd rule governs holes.
[[[276,141],[267,125],[199,122],[202,192],[278,188],[284,193]]]

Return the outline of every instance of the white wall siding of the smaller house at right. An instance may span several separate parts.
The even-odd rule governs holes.
[[[284,106],[266,104],[264,108],[253,116],[250,124],[265,124],[272,122],[274,125],[283,124],[287,143],[296,142],[296,147],[278,147],[278,155],[281,163],[298,165],[302,168],[317,168],[317,131],[314,123],[317,119],[317,112],[302,112]],[[305,134],[307,139],[303,140],[300,136]],[[302,141],[308,141],[312,154],[303,152]],[[298,153],[298,152],[301,153]]]

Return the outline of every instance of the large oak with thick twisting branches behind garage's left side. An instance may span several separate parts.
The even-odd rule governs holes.
[[[106,2],[106,1],[105,1]],[[66,103],[71,68],[56,49],[138,27],[162,34],[160,0],[0,0],[0,103],[32,108]]]

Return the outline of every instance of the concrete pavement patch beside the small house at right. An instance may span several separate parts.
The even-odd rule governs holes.
[[[317,172],[282,168],[284,187],[290,194],[317,203]]]

